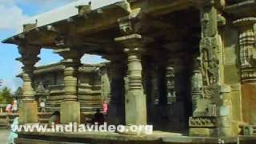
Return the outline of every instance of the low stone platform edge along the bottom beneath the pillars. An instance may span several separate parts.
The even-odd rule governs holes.
[[[153,134],[148,135],[126,135],[118,133],[102,133],[102,132],[86,132],[86,133],[25,133],[19,134],[15,140],[17,144],[253,144],[256,143],[256,137],[254,136],[238,136],[230,138],[204,138],[204,137],[188,137],[181,134],[165,133],[160,131],[154,131]]]

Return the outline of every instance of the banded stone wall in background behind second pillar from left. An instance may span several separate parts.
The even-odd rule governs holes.
[[[106,81],[108,79],[102,78],[100,72],[94,70],[97,67],[82,66],[82,70],[79,70],[78,102],[81,103],[82,112],[94,113],[97,108],[101,109],[103,97],[107,97],[106,95],[102,95],[102,80]],[[64,94],[63,71],[55,70],[54,72],[36,74],[34,78],[35,87],[38,87],[40,82],[42,82],[46,90],[49,90],[50,96],[46,102],[47,110],[59,110]],[[106,86],[105,89],[107,89]]]

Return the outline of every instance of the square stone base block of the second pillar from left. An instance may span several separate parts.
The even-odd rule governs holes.
[[[80,123],[80,102],[62,102],[60,113],[62,124]]]

